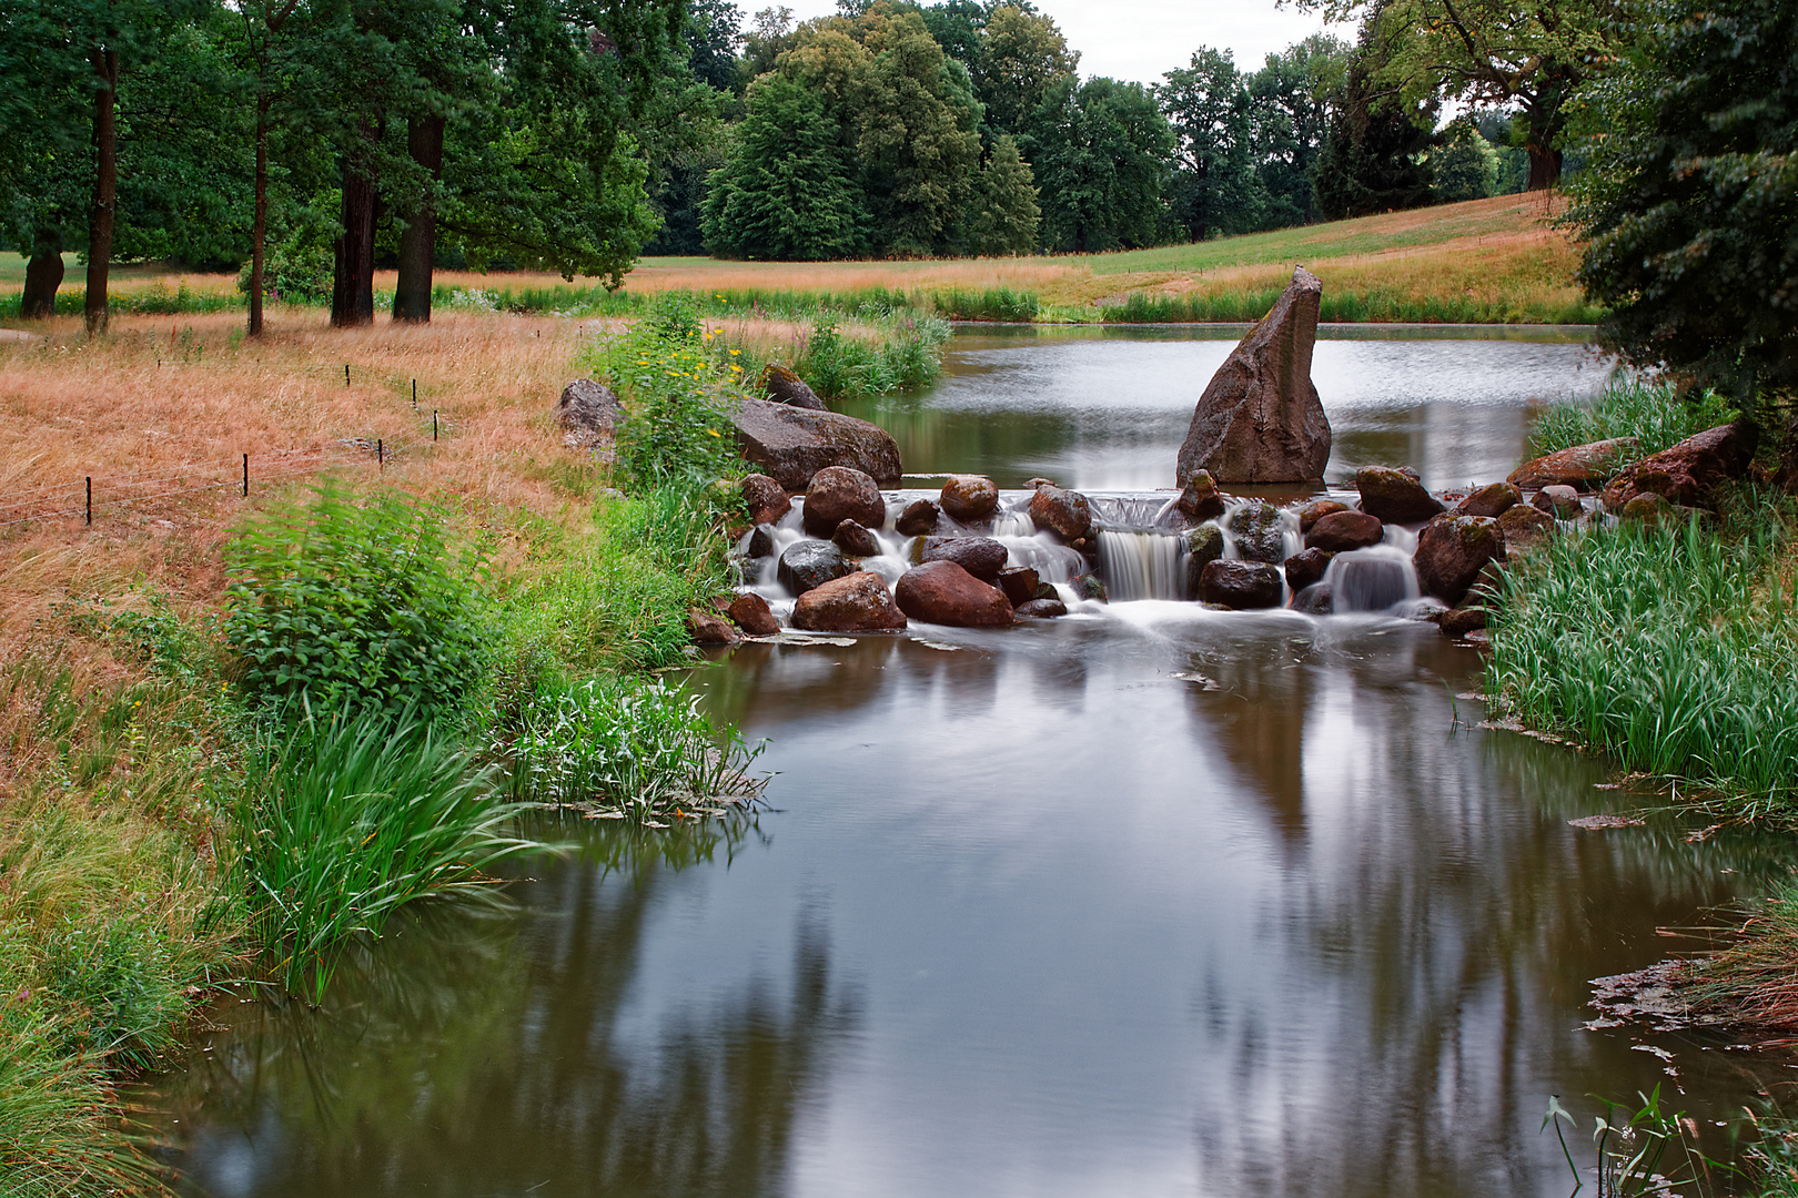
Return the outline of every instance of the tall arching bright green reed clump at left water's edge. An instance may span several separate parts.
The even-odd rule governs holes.
[[[239,885],[270,972],[324,1000],[352,936],[421,898],[478,893],[485,869],[543,846],[514,833],[525,803],[493,767],[412,711],[354,706],[271,727],[237,801]]]

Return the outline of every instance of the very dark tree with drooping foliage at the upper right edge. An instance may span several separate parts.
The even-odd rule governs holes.
[[[1656,13],[1589,88],[1568,223],[1600,336],[1731,393],[1798,392],[1798,7]]]

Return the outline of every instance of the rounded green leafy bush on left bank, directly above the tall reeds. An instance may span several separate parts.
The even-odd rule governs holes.
[[[446,514],[401,492],[358,503],[336,483],[273,510],[227,548],[225,636],[254,700],[390,711],[453,708],[482,672],[475,551]]]

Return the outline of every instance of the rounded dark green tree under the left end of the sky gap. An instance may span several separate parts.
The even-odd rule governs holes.
[[[1063,77],[1030,120],[1048,250],[1099,253],[1167,239],[1174,133],[1138,83]]]

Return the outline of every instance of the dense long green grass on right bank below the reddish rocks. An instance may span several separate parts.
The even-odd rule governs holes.
[[[1505,575],[1487,690],[1523,722],[1789,821],[1798,787],[1794,514],[1744,492],[1697,519],[1557,537]]]

